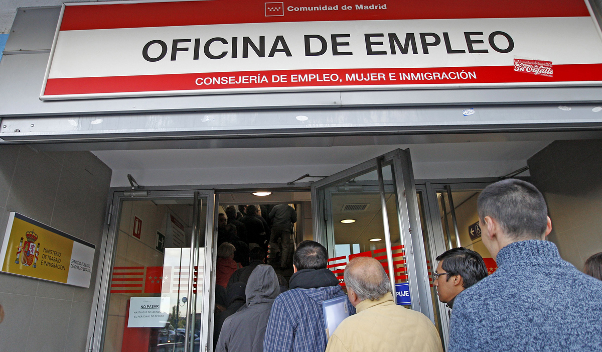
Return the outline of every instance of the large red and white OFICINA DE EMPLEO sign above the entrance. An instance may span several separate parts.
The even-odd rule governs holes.
[[[68,4],[40,99],[600,84],[584,0]]]

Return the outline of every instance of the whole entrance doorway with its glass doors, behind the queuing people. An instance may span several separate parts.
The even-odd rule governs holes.
[[[379,260],[398,303],[428,316],[447,345],[448,310],[432,287],[435,258],[463,246],[491,259],[480,241],[476,216],[476,198],[489,182],[417,185],[409,150],[396,149],[309,187],[116,190],[111,212],[116,219],[109,219],[92,319],[95,348],[210,351],[219,336],[214,336],[214,321],[220,213],[251,204],[267,214],[277,204],[291,206],[297,215],[291,228],[293,249],[306,239],[323,244],[328,268],[343,288],[349,260]],[[256,190],[272,193],[256,196]],[[262,245],[267,242],[266,236]],[[272,254],[270,248],[269,263]],[[490,261],[488,269],[494,270]],[[290,277],[291,262],[276,265],[278,273]],[[154,314],[144,311],[155,308]]]

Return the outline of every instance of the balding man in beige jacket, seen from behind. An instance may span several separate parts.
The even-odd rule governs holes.
[[[435,325],[423,313],[395,304],[389,278],[376,259],[351,260],[344,278],[357,313],[337,327],[326,352],[443,351]]]

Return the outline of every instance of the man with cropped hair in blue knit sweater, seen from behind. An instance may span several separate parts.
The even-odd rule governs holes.
[[[542,194],[491,184],[477,203],[497,271],[456,297],[449,351],[602,351],[602,281],[560,258]]]

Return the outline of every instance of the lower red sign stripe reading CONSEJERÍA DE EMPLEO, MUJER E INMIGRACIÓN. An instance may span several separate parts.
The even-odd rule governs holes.
[[[515,72],[514,66],[418,69],[315,69],[288,71],[216,72],[120,77],[49,78],[46,96],[104,93],[174,92],[180,90],[267,89],[297,87],[369,87],[483,83],[557,83],[602,81],[602,64],[554,65],[553,77]],[[445,74],[445,75],[443,75]],[[260,78],[258,78],[260,77]],[[263,79],[265,77],[265,81]],[[282,82],[286,77],[286,82]],[[458,78],[460,77],[460,78]],[[253,78],[253,80],[251,80]],[[335,81],[336,78],[336,81]],[[247,83],[248,82],[248,83]],[[200,83],[200,84],[196,84]],[[376,252],[376,251],[375,251]],[[352,254],[371,256],[369,254]],[[142,275],[117,273],[114,275]]]

